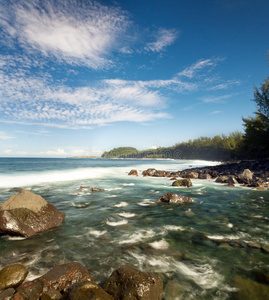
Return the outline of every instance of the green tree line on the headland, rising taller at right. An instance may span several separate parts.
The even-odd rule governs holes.
[[[269,77],[260,87],[254,87],[257,111],[254,117],[242,118],[244,133],[235,131],[228,136],[199,137],[172,147],[139,151],[133,147],[114,148],[103,158],[171,158],[236,160],[269,158]]]

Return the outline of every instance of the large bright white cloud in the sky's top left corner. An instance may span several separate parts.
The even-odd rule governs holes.
[[[111,52],[123,49],[120,36],[130,24],[119,8],[94,1],[11,0],[0,8],[0,25],[24,49],[94,69],[107,67]]]

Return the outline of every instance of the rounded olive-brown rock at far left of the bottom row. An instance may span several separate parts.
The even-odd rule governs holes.
[[[28,273],[28,270],[20,264],[4,267],[0,271],[0,291],[19,286],[23,283]]]

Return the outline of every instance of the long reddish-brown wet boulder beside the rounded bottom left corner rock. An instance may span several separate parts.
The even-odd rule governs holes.
[[[92,281],[87,269],[77,262],[66,263],[53,268],[33,281],[23,283],[17,288],[15,295],[17,299],[20,297],[22,299],[39,299],[43,293],[47,293],[49,290],[63,293],[71,285],[85,280]]]

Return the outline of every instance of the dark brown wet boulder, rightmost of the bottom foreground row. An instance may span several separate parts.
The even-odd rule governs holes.
[[[163,282],[154,273],[141,272],[124,265],[112,273],[103,289],[114,300],[161,300]]]

